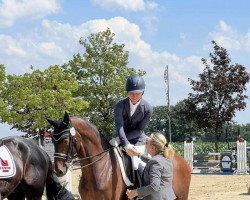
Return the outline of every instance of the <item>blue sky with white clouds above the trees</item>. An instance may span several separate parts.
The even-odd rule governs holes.
[[[226,48],[231,64],[250,72],[250,1],[247,0],[0,0],[0,64],[7,74],[61,65],[83,53],[79,39],[109,27],[129,51],[129,67],[145,70],[144,99],[166,105],[168,65],[170,105],[192,92],[209,59],[211,41]],[[246,95],[250,98],[250,85]],[[234,121],[250,123],[247,108]],[[18,134],[1,124],[1,137]]]

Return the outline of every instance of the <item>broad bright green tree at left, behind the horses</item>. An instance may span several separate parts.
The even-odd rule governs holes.
[[[8,115],[0,114],[2,122],[28,134],[41,134],[48,127],[45,115],[59,118],[65,110],[76,115],[86,109],[85,101],[72,97],[78,89],[72,75],[58,66],[44,72],[31,69],[32,73],[7,76],[1,98],[8,105]]]

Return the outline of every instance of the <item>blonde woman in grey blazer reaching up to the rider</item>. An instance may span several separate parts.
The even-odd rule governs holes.
[[[176,198],[172,187],[174,149],[161,133],[152,133],[147,138],[146,148],[151,158],[142,155],[136,149],[130,150],[130,155],[138,156],[147,164],[142,175],[143,187],[127,190],[128,198],[138,196],[144,200],[174,200]]]

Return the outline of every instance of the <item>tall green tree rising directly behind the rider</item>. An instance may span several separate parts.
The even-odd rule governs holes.
[[[126,95],[125,82],[133,73],[145,74],[128,68],[128,52],[124,44],[114,42],[110,29],[80,39],[83,55],[73,56],[63,69],[76,76],[79,90],[74,94],[89,103],[90,121],[110,138],[114,133],[113,108]]]

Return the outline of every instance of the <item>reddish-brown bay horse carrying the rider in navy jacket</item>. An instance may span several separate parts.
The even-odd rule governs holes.
[[[79,193],[87,200],[121,200],[126,192],[114,149],[96,127],[65,113],[59,120],[47,118],[54,127],[55,170],[64,175],[75,154],[80,160],[82,176]],[[177,199],[187,200],[191,170],[181,156],[174,156],[173,188]]]

